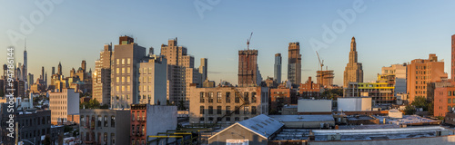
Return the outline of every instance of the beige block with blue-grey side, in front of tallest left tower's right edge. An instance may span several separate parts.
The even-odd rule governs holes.
[[[139,63],[139,103],[166,105],[167,60],[157,55]]]

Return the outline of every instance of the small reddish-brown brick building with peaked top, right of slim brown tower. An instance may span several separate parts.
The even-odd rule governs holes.
[[[300,98],[309,99],[317,98],[321,92],[321,85],[311,81],[311,77],[308,77],[308,81],[305,83],[300,83],[298,87],[298,95]]]

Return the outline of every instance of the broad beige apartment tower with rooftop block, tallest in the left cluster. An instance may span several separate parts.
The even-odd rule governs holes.
[[[128,109],[138,102],[137,81],[140,62],[146,56],[146,48],[134,43],[134,39],[121,36],[115,45],[111,72],[111,108]]]

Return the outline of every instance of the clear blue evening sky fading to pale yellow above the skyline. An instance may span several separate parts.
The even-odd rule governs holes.
[[[318,51],[324,65],[334,70],[334,83],[342,85],[355,36],[364,82],[374,82],[381,67],[426,59],[429,53],[444,60],[450,74],[453,5],[449,0],[0,0],[0,48],[6,52],[14,46],[15,62],[23,63],[26,38],[28,72],[36,79],[41,66],[50,77],[59,62],[65,76],[82,60],[94,70],[103,45],[117,44],[121,35],[154,47],[155,53],[177,37],[178,45],[195,57],[195,67],[200,58],[208,59],[209,80],[237,84],[238,50],[246,49],[253,32],[250,48],[258,50],[264,79],[274,75],[275,53],[282,54],[282,80],[287,79],[288,43],[299,42],[302,82],[316,77]],[[1,54],[0,63],[6,57]]]

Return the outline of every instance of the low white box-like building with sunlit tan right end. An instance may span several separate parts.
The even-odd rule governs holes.
[[[338,111],[371,111],[371,97],[349,97],[338,99]]]

